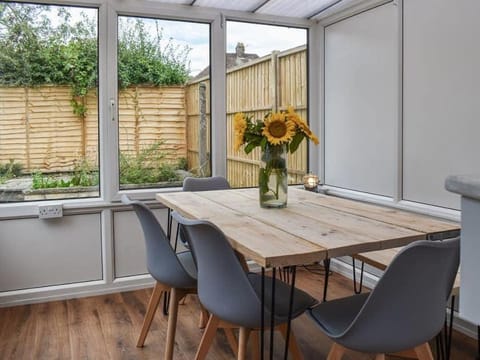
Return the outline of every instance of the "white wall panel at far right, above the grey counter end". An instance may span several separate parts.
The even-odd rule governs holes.
[[[444,189],[480,172],[480,1],[404,0],[404,199],[460,209]]]

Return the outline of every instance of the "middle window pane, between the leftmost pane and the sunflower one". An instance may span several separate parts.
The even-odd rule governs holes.
[[[120,188],[206,176],[209,25],[120,16]]]

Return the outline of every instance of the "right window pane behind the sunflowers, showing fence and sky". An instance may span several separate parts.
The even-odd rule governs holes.
[[[257,186],[260,164],[259,147],[249,154],[246,144],[236,149],[236,113],[263,121],[269,112],[292,107],[307,121],[306,44],[306,29],[227,22],[227,176],[233,187]],[[287,161],[289,183],[301,183],[307,142]]]

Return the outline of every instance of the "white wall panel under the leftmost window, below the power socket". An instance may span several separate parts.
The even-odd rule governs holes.
[[[0,293],[101,280],[100,229],[98,213],[1,221]]]

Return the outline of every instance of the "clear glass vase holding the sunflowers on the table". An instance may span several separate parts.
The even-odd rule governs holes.
[[[267,145],[265,150],[262,151],[258,188],[262,208],[284,208],[287,206],[286,145]]]

